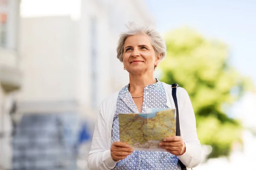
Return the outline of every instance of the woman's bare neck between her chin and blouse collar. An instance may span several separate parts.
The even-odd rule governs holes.
[[[129,74],[130,79],[130,85],[129,85],[129,91],[133,94],[143,94],[144,88],[147,85],[151,85],[157,82],[157,80],[154,78],[154,73],[148,75],[131,75]]]

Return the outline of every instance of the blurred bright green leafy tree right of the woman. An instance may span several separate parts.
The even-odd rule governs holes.
[[[178,83],[188,92],[201,144],[212,146],[209,158],[228,156],[241,141],[241,124],[227,116],[230,105],[251,88],[229,64],[227,45],[181,28],[165,36],[167,56],[160,64],[163,82]]]

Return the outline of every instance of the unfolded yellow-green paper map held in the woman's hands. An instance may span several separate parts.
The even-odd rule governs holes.
[[[159,142],[176,135],[175,109],[157,110],[151,113],[119,113],[120,141],[134,150],[164,151]]]

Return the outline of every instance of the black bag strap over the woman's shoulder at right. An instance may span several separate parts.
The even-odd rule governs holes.
[[[177,96],[176,91],[177,87],[180,87],[177,83],[172,84],[172,98],[175,103],[176,108],[176,136],[180,136],[180,119],[179,119],[179,109],[178,109],[178,103],[177,103]],[[181,170],[186,170],[186,166],[179,160],[178,163],[180,164]]]

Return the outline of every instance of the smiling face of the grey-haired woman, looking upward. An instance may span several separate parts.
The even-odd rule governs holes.
[[[125,40],[123,64],[129,73],[154,71],[154,65],[158,65],[159,61],[148,35],[137,34]]]

